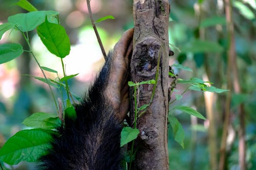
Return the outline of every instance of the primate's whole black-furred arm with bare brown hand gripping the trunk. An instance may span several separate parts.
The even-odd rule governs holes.
[[[119,169],[121,123],[129,110],[133,29],[109,53],[87,98],[76,106],[77,118],[58,127],[38,169]]]

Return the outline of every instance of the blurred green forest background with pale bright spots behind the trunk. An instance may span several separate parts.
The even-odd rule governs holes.
[[[8,16],[23,13],[13,4],[17,1],[0,0],[0,23]],[[71,91],[83,96],[92,83],[96,72],[103,64],[103,58],[91,27],[84,0],[34,0],[30,1],[39,10],[60,12],[60,23],[67,30],[72,43],[71,54],[64,59],[67,74],[79,75],[70,81]],[[239,169],[238,131],[240,129],[239,108],[244,107],[246,120],[246,162],[248,169],[256,169],[256,1],[232,2],[232,17],[236,41],[237,65],[227,76],[229,35],[223,0],[177,0],[171,5],[169,22],[169,43],[175,55],[170,57],[170,65],[180,63],[193,69],[193,72],[176,70],[179,78],[197,77],[214,82],[214,86],[231,90],[230,126],[227,136],[227,169]],[[113,15],[114,20],[97,24],[105,50],[113,48],[121,34],[133,27],[133,1],[131,0],[91,0],[95,20]],[[42,66],[61,71],[61,62],[47,52],[35,32],[30,32],[33,50]],[[7,32],[0,43],[26,43],[16,31]],[[235,64],[236,63],[236,64]],[[238,72],[236,79],[235,72]],[[26,74],[42,77],[40,70],[28,53],[22,57],[0,65],[0,147],[17,131],[24,129],[23,120],[34,112],[55,112],[54,104],[46,84]],[[48,73],[50,78],[55,76]],[[61,77],[61,75],[60,75]],[[240,82],[241,91],[236,92],[233,83]],[[231,82],[231,88],[228,86]],[[178,85],[177,92],[185,86]],[[179,91],[178,91],[179,90]],[[60,93],[55,89],[56,96]],[[210,161],[218,164],[220,145],[225,118],[227,93],[214,94],[189,91],[175,105],[186,105],[197,109],[208,118],[214,117],[216,136],[210,138],[209,120],[203,121],[179,112],[174,113],[185,130],[185,148],[175,142],[172,130],[168,131],[170,169],[215,169]],[[211,139],[211,140],[209,140]],[[210,142],[211,141],[211,142]],[[214,146],[212,146],[214,144]],[[216,149],[214,153],[210,148]],[[210,157],[209,155],[214,155]],[[10,169],[33,169],[32,163],[20,163]]]

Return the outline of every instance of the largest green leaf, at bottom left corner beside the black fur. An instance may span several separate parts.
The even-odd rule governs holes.
[[[0,150],[0,159],[10,165],[21,161],[36,162],[50,148],[52,130],[30,129],[17,132]]]

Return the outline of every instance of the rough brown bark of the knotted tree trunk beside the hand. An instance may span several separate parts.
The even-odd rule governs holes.
[[[170,6],[165,0],[134,0],[135,31],[131,77],[133,82],[156,77],[157,61],[160,69],[153,103],[137,119],[140,134],[135,141],[137,150],[132,169],[168,169],[168,22]],[[159,55],[160,53],[160,55]],[[139,87],[138,107],[150,103],[154,85]],[[131,119],[134,120],[134,102]]]

